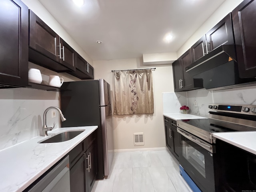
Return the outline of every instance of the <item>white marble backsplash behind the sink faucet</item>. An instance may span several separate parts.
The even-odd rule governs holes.
[[[49,106],[59,107],[59,92],[29,88],[0,89],[0,150],[39,136],[43,113]],[[47,113],[47,125],[60,125]]]

